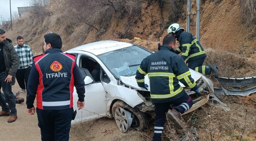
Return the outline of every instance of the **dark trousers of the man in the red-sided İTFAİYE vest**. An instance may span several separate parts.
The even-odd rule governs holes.
[[[73,108],[41,110],[36,108],[42,141],[68,141]]]

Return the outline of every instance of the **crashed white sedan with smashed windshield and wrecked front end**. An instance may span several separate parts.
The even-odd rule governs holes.
[[[136,44],[113,40],[85,44],[66,52],[76,56],[76,63],[85,82],[85,107],[77,110],[72,124],[109,117],[115,119],[122,132],[128,131],[130,127],[139,130],[146,128],[147,121],[154,116],[154,104],[150,102],[150,87],[148,90],[138,87],[135,75],[141,61],[153,52]],[[200,95],[185,89],[194,101],[186,113],[209,100],[221,103],[213,93],[211,80],[190,71],[198,84]],[[149,84],[147,75],[145,83]],[[73,98],[76,103],[75,90]],[[225,103],[221,104],[225,106]],[[77,109],[75,105],[73,108]]]

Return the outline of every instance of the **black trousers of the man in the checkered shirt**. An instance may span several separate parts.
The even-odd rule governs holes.
[[[31,67],[18,69],[16,72],[16,79],[21,89],[27,89],[30,69]]]

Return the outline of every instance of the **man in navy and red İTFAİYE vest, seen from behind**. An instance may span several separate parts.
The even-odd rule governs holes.
[[[84,81],[75,63],[75,56],[63,53],[62,40],[56,33],[44,36],[46,54],[34,57],[28,78],[27,111],[35,113],[42,141],[68,141],[73,116],[74,86],[77,107],[84,108]]]

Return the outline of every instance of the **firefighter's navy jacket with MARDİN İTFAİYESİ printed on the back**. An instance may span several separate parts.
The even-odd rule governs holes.
[[[143,59],[136,72],[139,87],[144,87],[144,78],[148,74],[153,103],[169,102],[181,97],[185,91],[179,81],[189,89],[198,89],[189,68],[174,52],[169,46],[161,46],[159,51]]]

